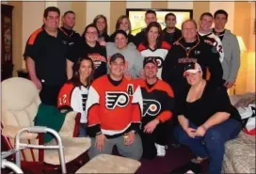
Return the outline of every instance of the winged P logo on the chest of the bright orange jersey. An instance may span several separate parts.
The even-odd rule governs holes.
[[[105,107],[115,109],[116,106],[125,107],[129,103],[129,96],[125,92],[105,92]]]

